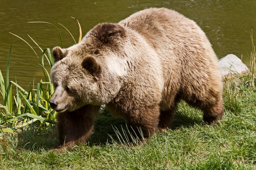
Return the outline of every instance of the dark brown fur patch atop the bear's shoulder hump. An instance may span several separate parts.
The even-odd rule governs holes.
[[[120,40],[126,36],[126,30],[119,24],[99,24],[92,30],[103,44],[112,45],[114,40]]]

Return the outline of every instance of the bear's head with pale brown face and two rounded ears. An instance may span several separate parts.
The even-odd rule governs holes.
[[[55,64],[51,77],[55,91],[49,101],[51,107],[64,112],[94,104],[94,92],[99,91],[97,81],[101,77],[101,66],[95,57],[89,55],[79,60],[60,47],[55,47],[52,53]]]

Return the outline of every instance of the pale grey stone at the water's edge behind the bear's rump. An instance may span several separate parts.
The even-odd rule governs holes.
[[[222,77],[231,77],[249,72],[249,68],[236,55],[229,54],[219,60]]]

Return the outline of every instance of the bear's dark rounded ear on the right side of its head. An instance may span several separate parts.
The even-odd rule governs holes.
[[[95,57],[88,56],[82,62],[83,68],[85,68],[91,75],[99,77],[101,72],[101,66],[97,63]]]

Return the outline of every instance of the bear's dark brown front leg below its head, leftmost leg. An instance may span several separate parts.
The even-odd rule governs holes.
[[[73,112],[58,113],[58,148],[71,149],[74,144],[84,144],[93,130],[93,121],[100,106],[86,105]]]

